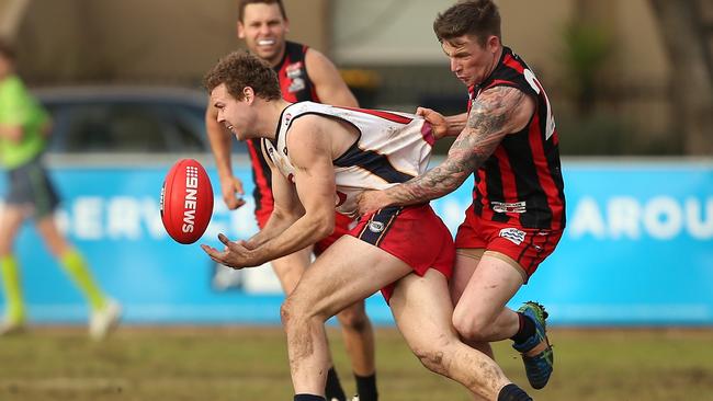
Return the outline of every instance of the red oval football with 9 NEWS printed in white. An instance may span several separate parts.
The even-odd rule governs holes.
[[[213,215],[213,187],[205,169],[193,159],[179,160],[166,175],[161,188],[161,221],[180,243],[203,236]]]

